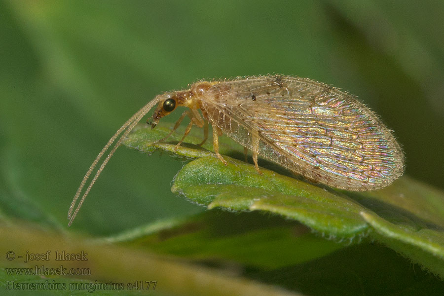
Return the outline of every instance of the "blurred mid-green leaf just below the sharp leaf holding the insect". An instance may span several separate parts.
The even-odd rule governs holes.
[[[102,239],[211,264],[231,262],[264,270],[321,258],[348,245],[325,240],[309,228],[258,212],[212,210],[159,229],[158,223]],[[152,228],[158,230],[152,232]]]

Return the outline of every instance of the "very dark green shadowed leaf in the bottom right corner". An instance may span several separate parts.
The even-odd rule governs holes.
[[[430,272],[378,244],[353,245],[302,264],[247,274],[305,295],[440,296],[444,291],[444,283]]]

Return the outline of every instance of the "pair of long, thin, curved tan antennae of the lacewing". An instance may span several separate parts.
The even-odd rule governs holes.
[[[125,140],[126,136],[128,136],[128,134],[131,132],[131,130],[136,126],[137,123],[139,123],[139,121],[142,119],[142,117],[144,117],[150,110],[151,108],[157,104],[160,100],[162,99],[162,97],[157,96],[155,97],[153,100],[151,100],[147,105],[145,105],[141,110],[137,111],[133,116],[131,116],[130,119],[128,119],[128,121],[126,121],[116,132],[115,134],[111,137],[111,139],[108,141],[107,145],[105,145],[105,147],[100,151],[100,153],[97,155],[96,159],[93,161],[93,163],[91,164],[91,166],[89,167],[88,171],[86,172],[85,176],[83,177],[82,182],[80,183],[80,185],[78,186],[77,192],[74,195],[73,201],[71,202],[71,206],[70,206],[70,210],[68,211],[68,220],[70,221],[68,223],[68,227],[71,226],[71,224],[74,221],[75,216],[77,216],[78,210],[80,209],[80,207],[82,206],[86,196],[88,195],[89,191],[91,190],[92,186],[94,185],[94,183],[96,182],[97,178],[99,178],[100,173],[102,173],[103,169],[105,168],[105,166],[107,165],[108,161],[110,160],[112,154],[114,154],[115,150],[120,146],[120,144],[122,144],[123,140]],[[123,132],[123,134],[122,134]],[[86,184],[86,181],[89,179],[89,177],[91,176],[91,173],[94,171],[94,168],[97,166],[97,164],[99,163],[99,161],[102,159],[102,157],[105,155],[105,152],[111,147],[111,145],[115,142],[115,140],[119,137],[119,135],[122,134],[122,136],[117,140],[117,143],[114,145],[114,147],[111,149],[111,152],[107,155],[107,157],[105,158],[105,160],[102,162],[102,164],[100,165],[99,169],[97,170],[94,178],[91,180],[91,183],[88,185],[88,187],[85,190],[85,193],[83,193],[82,198],[80,199],[77,207],[74,210],[75,207],[75,203],[78,199],[78,197],[80,196],[83,187]]]

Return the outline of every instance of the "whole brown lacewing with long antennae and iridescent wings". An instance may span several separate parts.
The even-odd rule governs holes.
[[[223,163],[218,137],[226,134],[252,150],[259,173],[258,155],[315,183],[346,190],[382,188],[403,173],[404,155],[390,130],[355,97],[335,87],[283,75],[199,81],[187,90],[156,96],[111,137],[77,189],[69,225],[114,151],[156,104],[152,128],[178,106],[188,107],[168,135],[185,117],[190,118],[178,146],[193,125],[204,128],[203,144],[210,123],[214,151]],[[74,210],[86,181],[109,148]]]

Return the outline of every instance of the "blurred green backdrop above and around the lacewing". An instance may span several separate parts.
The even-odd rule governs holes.
[[[439,0],[1,1],[0,214],[65,228],[87,168],[148,100],[268,73],[359,96],[395,131],[406,173],[444,188],[443,15]],[[204,211],[170,192],[182,165],[119,148],[73,228]]]

